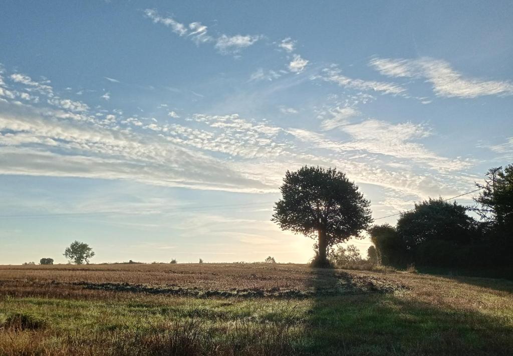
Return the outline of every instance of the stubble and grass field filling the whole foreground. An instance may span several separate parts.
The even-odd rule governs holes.
[[[509,355],[513,283],[296,264],[0,266],[0,355]]]

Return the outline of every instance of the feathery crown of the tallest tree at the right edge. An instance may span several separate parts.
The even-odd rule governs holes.
[[[474,198],[477,205],[471,210],[501,231],[513,229],[513,164],[492,168],[486,173],[484,184],[476,183],[482,189]]]

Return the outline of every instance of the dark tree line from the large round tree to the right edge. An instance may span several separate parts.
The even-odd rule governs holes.
[[[344,173],[304,166],[287,171],[272,221],[317,240],[316,267],[329,267],[334,246],[367,231],[373,243],[368,260],[378,264],[510,268],[513,165],[490,169],[484,183],[476,185],[480,193],[473,206],[429,198],[401,213],[395,226],[371,225],[370,202]]]

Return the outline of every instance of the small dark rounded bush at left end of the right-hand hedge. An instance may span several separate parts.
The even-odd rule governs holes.
[[[377,264],[385,266],[402,266],[407,263],[406,244],[389,224],[374,225],[367,232],[376,246]]]

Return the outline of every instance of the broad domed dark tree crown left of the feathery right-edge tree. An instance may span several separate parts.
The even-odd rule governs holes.
[[[466,210],[456,202],[429,198],[416,203],[413,211],[401,214],[397,232],[408,249],[429,240],[468,242],[474,220]]]

